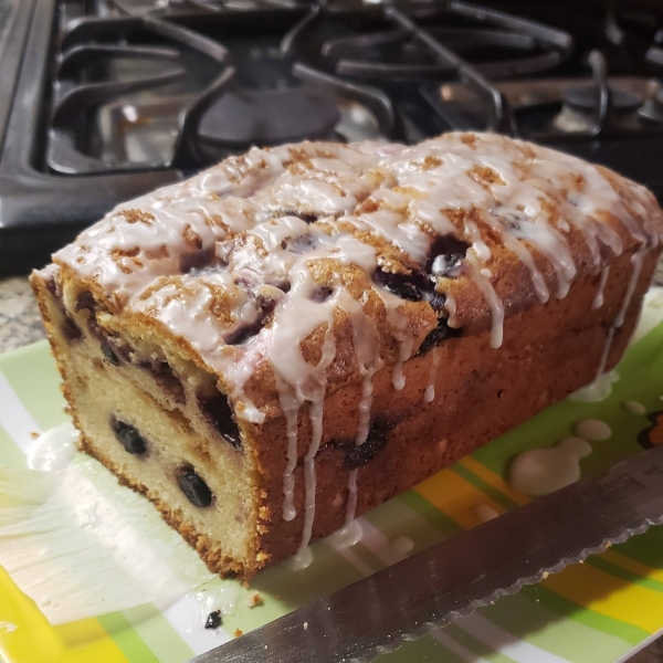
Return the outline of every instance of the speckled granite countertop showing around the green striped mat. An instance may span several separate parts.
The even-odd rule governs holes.
[[[663,260],[654,283],[663,285]],[[24,276],[0,278],[0,352],[44,338],[41,316]],[[663,663],[663,638],[631,659],[632,663]]]

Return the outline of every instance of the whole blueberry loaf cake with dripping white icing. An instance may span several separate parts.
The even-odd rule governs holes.
[[[249,578],[621,357],[663,217],[490,134],[252,149],[32,275],[81,449]]]

